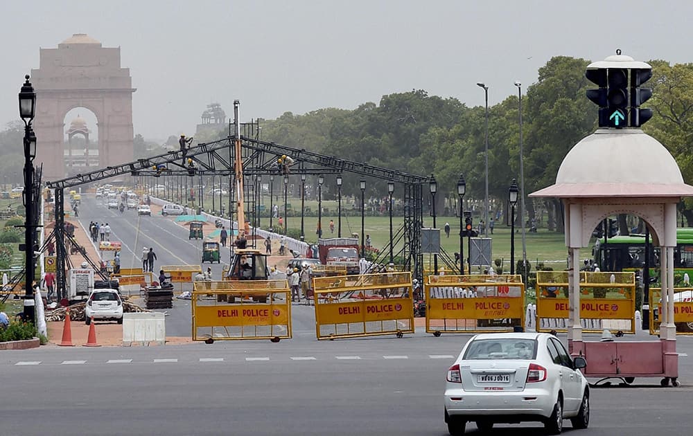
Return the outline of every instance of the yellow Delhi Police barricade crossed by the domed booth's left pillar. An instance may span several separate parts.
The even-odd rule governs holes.
[[[581,272],[580,322],[584,331],[635,333],[635,273]],[[536,271],[536,330],[567,331],[568,272]]]

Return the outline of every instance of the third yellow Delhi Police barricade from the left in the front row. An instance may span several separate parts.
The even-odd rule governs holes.
[[[521,275],[428,275],[426,332],[514,331],[525,325]]]

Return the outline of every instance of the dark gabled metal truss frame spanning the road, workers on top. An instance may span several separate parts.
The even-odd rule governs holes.
[[[250,122],[240,125],[241,154],[243,159],[243,173],[245,178],[253,179],[254,183],[243,183],[245,210],[247,210],[247,221],[257,223],[256,216],[259,211],[258,201],[260,199],[260,179],[261,176],[271,175],[283,178],[285,176],[296,176],[297,174],[317,175],[317,174],[342,174],[352,173],[360,176],[369,176],[380,181],[393,181],[403,185],[404,199],[404,223],[402,234],[404,244],[397,256],[403,258],[404,267],[412,271],[414,277],[423,276],[423,254],[421,253],[421,228],[423,226],[423,188],[424,183],[428,183],[428,176],[408,174],[397,170],[392,170],[374,165],[367,165],[348,161],[347,159],[335,156],[326,156],[305,149],[296,149],[286,145],[279,145],[267,142],[258,138],[258,123]],[[229,133],[231,127],[229,126]],[[222,176],[229,177],[229,218],[233,221],[234,208],[231,199],[234,198],[234,187],[238,184],[234,172],[234,141],[236,137],[229,134],[227,138],[202,143],[189,147],[184,151],[173,151],[150,158],[141,158],[130,163],[110,166],[100,170],[75,176],[58,181],[46,182],[46,185],[55,190],[55,230],[56,237],[63,237],[63,212],[64,196],[63,190],[73,186],[84,185],[109,179],[119,175],[130,175],[135,177],[160,177],[160,176]],[[288,156],[294,161],[288,169],[288,174],[281,167],[278,167],[277,160],[283,156]],[[60,250],[60,244],[58,244]],[[58,253],[58,269],[64,267],[64,251]],[[62,274],[58,273],[58,289],[64,291],[65,281]],[[62,288],[61,288],[62,287]]]

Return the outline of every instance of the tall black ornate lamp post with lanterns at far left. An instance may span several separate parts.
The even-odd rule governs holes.
[[[29,82],[29,75],[25,76],[26,82],[19,91],[19,117],[24,121],[24,321],[34,323],[34,245],[36,237],[37,204],[34,199],[34,158],[36,157],[36,136],[31,128],[31,122],[36,113],[36,93]],[[21,248],[21,247],[20,247]]]

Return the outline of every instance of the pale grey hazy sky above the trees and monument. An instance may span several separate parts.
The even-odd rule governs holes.
[[[39,48],[73,33],[121,47],[134,132],[194,134],[210,102],[241,120],[353,109],[425,89],[468,106],[536,81],[555,55],[691,62],[693,1],[2,1],[0,123]]]

